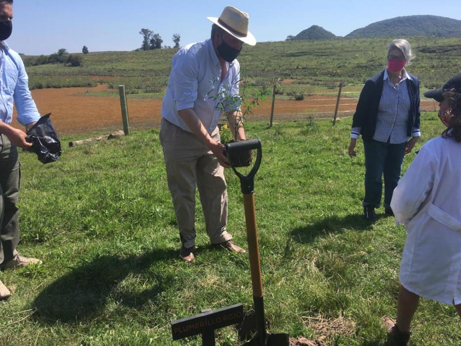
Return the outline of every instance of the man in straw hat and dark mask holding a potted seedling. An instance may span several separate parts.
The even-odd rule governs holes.
[[[224,111],[233,129],[241,116],[240,64],[236,60],[243,43],[256,44],[248,31],[248,14],[227,6],[213,22],[211,39],[188,44],[173,57],[168,87],[163,98],[160,142],[181,239],[180,256],[190,263],[195,250],[195,192],[205,216],[211,244],[245,253],[226,231],[227,191],[223,167],[229,167],[220,143],[218,121]],[[234,131],[245,139],[243,127]]]

